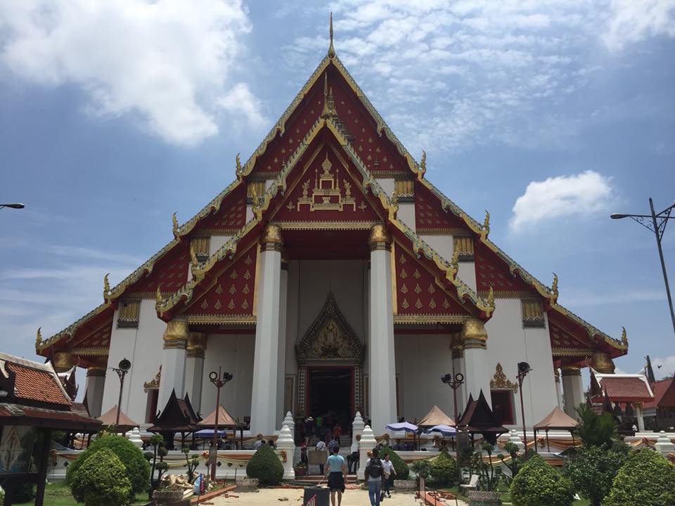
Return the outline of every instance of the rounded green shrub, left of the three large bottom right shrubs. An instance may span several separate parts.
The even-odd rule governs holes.
[[[513,506],[570,506],[574,485],[539,455],[532,455],[511,481]]]

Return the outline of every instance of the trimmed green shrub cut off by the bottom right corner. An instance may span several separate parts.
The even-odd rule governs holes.
[[[603,501],[603,506],[674,504],[675,466],[649,448],[629,453]]]

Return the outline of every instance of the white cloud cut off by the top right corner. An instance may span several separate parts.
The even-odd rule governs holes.
[[[675,0],[612,0],[605,45],[619,51],[648,37],[675,37]]]

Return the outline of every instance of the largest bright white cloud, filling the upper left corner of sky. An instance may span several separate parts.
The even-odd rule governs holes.
[[[132,115],[169,143],[218,132],[217,97],[261,122],[260,103],[232,74],[250,32],[240,0],[0,2],[0,63],[44,86],[76,84],[94,115]]]

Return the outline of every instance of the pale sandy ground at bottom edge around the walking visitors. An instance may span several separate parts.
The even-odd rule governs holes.
[[[240,492],[233,491],[232,495],[238,495],[238,498],[230,496],[229,498],[219,497],[208,501],[213,506],[260,506],[260,505],[278,505],[278,506],[301,506],[302,505],[302,489],[291,488],[267,488],[259,492]],[[288,500],[280,500],[288,498]],[[337,506],[337,497],[335,504]],[[202,504],[202,503],[200,503]],[[419,501],[415,500],[415,495],[411,493],[392,493],[391,498],[385,499],[380,503],[382,506],[413,506],[419,505]],[[452,501],[451,505],[455,502]],[[458,502],[459,506],[466,506],[465,502]],[[205,503],[207,506],[207,503]],[[370,506],[368,500],[368,491],[364,490],[347,490],[345,495],[342,495],[342,506]]]

